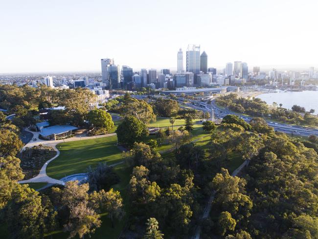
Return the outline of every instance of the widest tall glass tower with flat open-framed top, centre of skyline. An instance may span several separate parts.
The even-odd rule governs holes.
[[[194,78],[200,73],[200,45],[188,45],[186,50],[186,71],[194,73]]]

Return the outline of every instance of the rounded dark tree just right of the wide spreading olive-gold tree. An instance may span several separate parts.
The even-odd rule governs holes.
[[[173,117],[176,116],[179,111],[178,101],[173,99],[159,98],[154,104],[154,110],[160,117]]]

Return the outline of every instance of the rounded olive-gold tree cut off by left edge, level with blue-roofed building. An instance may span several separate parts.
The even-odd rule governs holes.
[[[23,143],[14,132],[0,128],[0,157],[16,156]]]

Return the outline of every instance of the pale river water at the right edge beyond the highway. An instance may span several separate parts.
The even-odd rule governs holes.
[[[267,93],[257,96],[268,104],[272,105],[276,102],[278,105],[283,104],[283,108],[292,109],[293,105],[305,107],[306,111],[315,110],[315,115],[318,114],[318,91],[287,91],[277,93]]]

